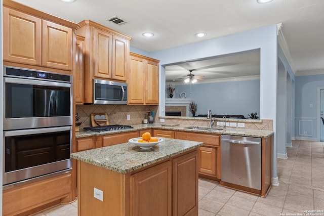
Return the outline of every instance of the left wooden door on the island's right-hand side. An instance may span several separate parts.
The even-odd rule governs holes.
[[[172,215],[172,163],[131,176],[131,215]]]

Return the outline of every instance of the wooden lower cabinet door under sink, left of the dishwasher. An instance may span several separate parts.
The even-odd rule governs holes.
[[[216,177],[216,148],[199,147],[199,173]]]

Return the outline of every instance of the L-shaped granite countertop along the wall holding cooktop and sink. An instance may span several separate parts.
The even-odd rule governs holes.
[[[156,128],[156,129],[171,129],[174,131],[186,131],[186,132],[199,132],[199,133],[207,133],[207,134],[223,134],[223,135],[234,135],[234,136],[244,136],[244,137],[259,137],[259,138],[267,138],[273,134],[273,131],[263,131],[263,130],[253,130],[253,129],[238,129],[238,128],[227,128],[217,129],[217,127],[213,127],[212,131],[206,131],[201,129],[188,129],[185,127],[192,125],[182,125],[182,124],[163,124],[163,123],[153,123],[153,124],[136,124],[132,125],[134,128],[131,129],[123,129],[119,131],[109,131],[109,132],[88,132],[80,129],[80,132],[75,133],[76,138],[82,137],[90,137],[90,136],[103,136],[109,134],[119,134],[131,131],[139,131],[140,129],[148,129],[148,128]]]

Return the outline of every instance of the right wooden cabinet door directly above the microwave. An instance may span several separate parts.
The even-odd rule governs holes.
[[[112,79],[126,81],[129,65],[129,40],[119,36],[112,36]]]

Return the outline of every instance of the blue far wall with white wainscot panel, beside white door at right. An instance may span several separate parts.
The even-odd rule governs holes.
[[[324,74],[296,76],[295,137],[317,140],[317,88],[324,87]],[[310,107],[312,104],[312,107]],[[306,135],[305,135],[306,132]],[[319,136],[319,135],[318,135]]]

